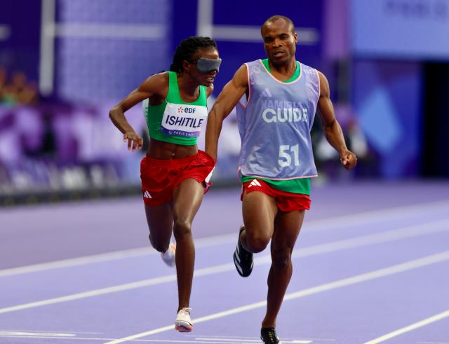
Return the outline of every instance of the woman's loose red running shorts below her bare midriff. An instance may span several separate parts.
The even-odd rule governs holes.
[[[204,183],[208,190],[209,174],[215,160],[204,151],[181,159],[154,159],[145,156],[140,162],[140,179],[145,205],[161,205],[173,200],[173,191],[187,178]],[[208,178],[209,177],[209,178]],[[207,180],[206,180],[207,179]]]

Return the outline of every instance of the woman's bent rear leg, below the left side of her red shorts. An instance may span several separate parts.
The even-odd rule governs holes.
[[[173,228],[173,211],[170,203],[145,205],[145,214],[149,228],[149,242],[156,251],[166,252]]]

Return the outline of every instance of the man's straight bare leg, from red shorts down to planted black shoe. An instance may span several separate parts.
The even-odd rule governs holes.
[[[262,321],[262,328],[276,327],[276,317],[292,277],[291,255],[303,220],[304,210],[279,212],[274,220],[271,245],[272,266],[268,274],[267,313]]]

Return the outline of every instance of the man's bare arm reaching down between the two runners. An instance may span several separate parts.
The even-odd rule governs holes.
[[[213,108],[209,112],[205,150],[215,160],[217,160],[218,137],[220,137],[220,132],[222,131],[223,120],[247,91],[248,74],[246,64],[243,64],[236,71],[232,80],[220,92],[213,104]]]

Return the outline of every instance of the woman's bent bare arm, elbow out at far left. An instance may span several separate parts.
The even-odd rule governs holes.
[[[141,148],[143,139],[128,123],[124,113],[144,99],[163,99],[167,92],[168,73],[154,74],[109,111],[109,118],[111,118],[112,123],[123,132],[123,141],[128,142],[128,150],[135,151],[135,149]]]

